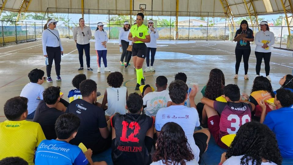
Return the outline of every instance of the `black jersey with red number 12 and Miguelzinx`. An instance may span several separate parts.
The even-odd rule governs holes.
[[[111,118],[116,138],[112,140],[112,160],[115,165],[150,164],[150,155],[145,146],[147,130],[154,118],[147,115],[126,113]]]

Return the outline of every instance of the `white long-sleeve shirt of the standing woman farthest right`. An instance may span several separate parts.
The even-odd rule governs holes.
[[[269,41],[267,44],[269,46],[269,49],[263,49],[262,46],[264,43],[262,41]],[[256,47],[255,47],[255,52],[263,52],[263,53],[268,53],[272,52],[271,47],[275,43],[275,35],[271,31],[259,31],[255,34],[254,38]]]

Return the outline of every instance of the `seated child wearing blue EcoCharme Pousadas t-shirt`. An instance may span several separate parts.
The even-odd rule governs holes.
[[[76,146],[69,144],[73,139],[80,125],[80,119],[67,113],[58,117],[55,124],[57,138],[43,140],[36,151],[36,165],[107,165],[106,162],[93,162],[92,150],[88,149],[85,153]]]

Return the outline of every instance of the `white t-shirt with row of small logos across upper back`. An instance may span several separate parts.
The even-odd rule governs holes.
[[[159,109],[155,121],[156,130],[161,131],[164,124],[168,122],[177,123],[183,128],[194,154],[194,159],[198,162],[200,151],[193,138],[195,127],[200,125],[197,110],[184,105],[171,105],[170,107]]]

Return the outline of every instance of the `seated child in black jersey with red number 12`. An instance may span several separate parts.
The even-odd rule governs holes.
[[[111,118],[112,160],[114,165],[139,164],[149,165],[154,134],[154,117],[145,114],[143,99],[137,94],[130,94],[126,101],[128,113]]]

